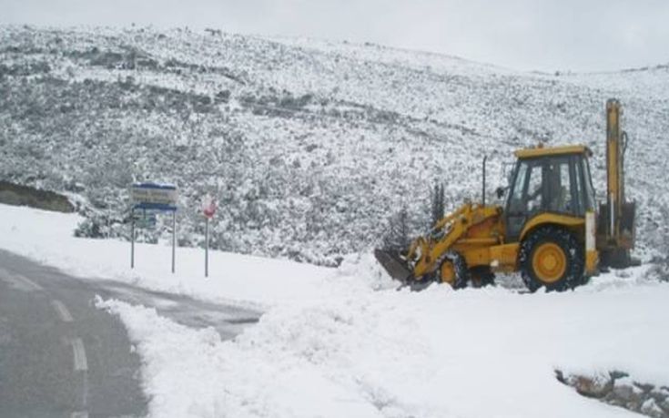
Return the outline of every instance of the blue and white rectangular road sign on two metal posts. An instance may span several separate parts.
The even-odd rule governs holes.
[[[175,270],[177,247],[177,187],[156,183],[136,183],[131,189],[132,208],[130,209],[130,268],[135,268],[135,222],[139,228],[154,228],[156,212],[172,212],[172,272]],[[135,211],[141,210],[141,218]]]

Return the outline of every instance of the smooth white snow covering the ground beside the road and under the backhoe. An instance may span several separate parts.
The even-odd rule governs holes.
[[[156,311],[97,301],[127,325],[144,362],[151,416],[633,416],[586,399],[554,370],[629,372],[669,383],[669,284],[648,266],[576,291],[506,287],[397,291],[369,255],[337,270],[214,251],[72,236],[79,220],[0,205],[0,248],[89,280],[115,279],[260,307],[231,341]]]

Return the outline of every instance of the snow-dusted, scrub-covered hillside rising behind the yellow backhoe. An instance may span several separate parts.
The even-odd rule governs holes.
[[[603,190],[618,97],[642,255],[669,247],[669,66],[546,75],[375,45],[4,26],[0,97],[0,179],[76,196],[82,233],[127,235],[128,185],[167,181],[181,244],[201,242],[211,192],[214,247],[321,263],[374,245],[402,205],[423,226],[435,180],[447,209],[478,199],[483,155],[492,190],[539,140],[593,148]]]

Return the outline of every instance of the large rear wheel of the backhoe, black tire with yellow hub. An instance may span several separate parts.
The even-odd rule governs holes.
[[[583,245],[562,228],[536,229],[521,244],[522,281],[530,291],[565,291],[583,283]]]

